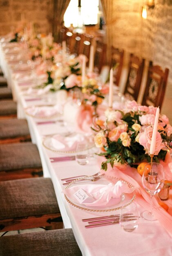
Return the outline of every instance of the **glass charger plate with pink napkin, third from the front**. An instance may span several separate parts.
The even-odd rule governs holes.
[[[25,108],[25,113],[38,119],[50,119],[61,115],[54,105],[33,106]]]

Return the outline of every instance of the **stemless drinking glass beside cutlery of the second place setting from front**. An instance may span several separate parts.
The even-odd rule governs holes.
[[[88,145],[84,142],[78,143],[76,146],[76,161],[81,165],[88,164],[89,162]]]

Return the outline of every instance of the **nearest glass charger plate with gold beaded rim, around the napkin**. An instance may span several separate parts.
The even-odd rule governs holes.
[[[125,184],[128,185],[129,188],[134,188],[129,182],[117,178],[117,177],[112,177],[112,176],[88,176],[88,177],[81,177],[77,180],[74,180],[73,182],[69,183],[65,189],[69,189],[71,187],[74,187],[76,185],[85,185],[85,184],[109,184],[113,183],[116,184],[118,181],[124,182]],[[81,186],[82,187],[82,186]],[[112,198],[107,205],[105,206],[95,206],[95,207],[90,207],[90,206],[85,206],[84,204],[80,204],[76,198],[71,195],[68,197],[64,193],[65,199],[69,204],[73,205],[74,207],[77,207],[79,209],[85,210],[85,211],[96,211],[96,212],[106,212],[106,211],[116,211],[121,209],[123,206],[127,206],[131,204],[134,199],[136,198],[136,191],[133,190],[131,193],[123,193],[120,198]]]

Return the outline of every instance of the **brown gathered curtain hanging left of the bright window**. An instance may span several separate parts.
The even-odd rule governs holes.
[[[50,22],[52,24],[52,33],[55,41],[58,40],[60,28],[63,25],[63,16],[69,5],[70,0],[53,0],[53,13]]]

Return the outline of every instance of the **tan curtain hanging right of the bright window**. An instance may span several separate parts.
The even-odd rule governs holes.
[[[114,17],[115,0],[101,0],[103,15],[106,22],[106,44],[107,44],[107,61],[110,61],[111,45],[114,42],[113,25],[116,22]]]

